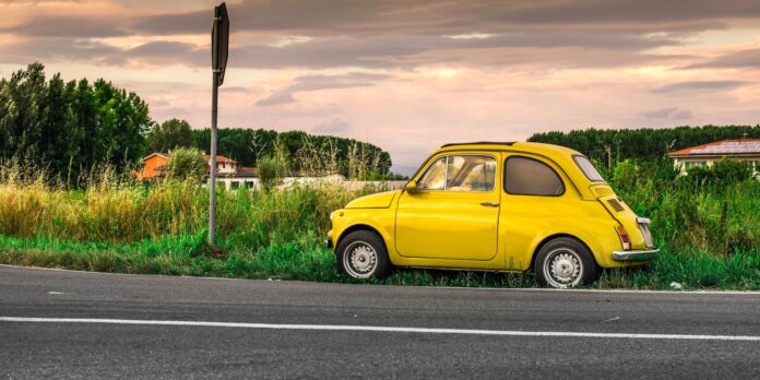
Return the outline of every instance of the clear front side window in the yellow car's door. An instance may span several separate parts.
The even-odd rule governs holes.
[[[496,185],[496,158],[480,155],[440,157],[417,181],[420,190],[492,191]]]

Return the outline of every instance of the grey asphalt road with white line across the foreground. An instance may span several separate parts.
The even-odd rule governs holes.
[[[758,379],[760,294],[335,285],[0,265],[0,378],[39,377]]]

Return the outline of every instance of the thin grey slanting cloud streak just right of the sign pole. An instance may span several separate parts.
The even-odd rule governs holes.
[[[295,79],[287,87],[275,90],[272,94],[256,104],[258,106],[273,106],[295,102],[293,94],[309,91],[352,88],[372,86],[372,81],[389,78],[384,74],[371,74],[352,72],[343,75],[304,75]]]

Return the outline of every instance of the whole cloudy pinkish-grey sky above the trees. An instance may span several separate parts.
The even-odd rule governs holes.
[[[0,76],[104,78],[157,121],[211,119],[216,2],[0,0]],[[760,122],[760,1],[235,0],[219,126],[448,142]],[[224,152],[222,152],[224,153]]]

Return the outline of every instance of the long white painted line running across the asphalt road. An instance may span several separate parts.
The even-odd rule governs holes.
[[[193,326],[193,328],[396,332],[396,333],[418,333],[418,334],[460,334],[460,335],[496,335],[496,336],[606,337],[606,339],[632,339],[632,340],[680,340],[680,341],[687,340],[687,341],[760,342],[760,336],[753,336],[753,335],[628,334],[628,333],[593,333],[593,332],[567,332],[567,331],[426,329],[426,328],[394,328],[394,326],[341,325],[341,324],[278,324],[278,323],[238,323],[238,322],[203,322],[203,321],[159,321],[159,320],[136,320],[136,319],[0,317],[0,322],[105,323],[105,324],[171,325],[171,326]]]

